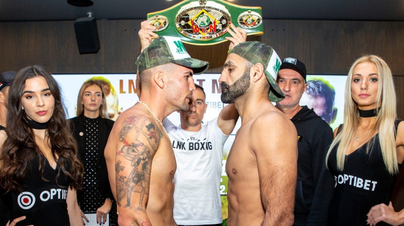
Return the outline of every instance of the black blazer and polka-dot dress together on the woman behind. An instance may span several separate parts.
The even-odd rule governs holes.
[[[83,212],[96,212],[106,198],[114,200],[111,192],[104,149],[114,121],[101,117],[90,119],[81,115],[70,119],[73,135],[78,143],[78,154],[84,166],[83,190],[77,200]],[[118,225],[115,201],[109,212],[110,225]]]

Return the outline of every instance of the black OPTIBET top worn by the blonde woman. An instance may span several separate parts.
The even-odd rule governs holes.
[[[399,122],[395,122],[395,130]],[[372,139],[375,139],[375,142],[368,153],[367,144],[364,144],[346,155],[342,172],[337,170],[336,165],[337,146],[332,149],[328,166],[336,182],[329,208],[328,225],[367,225],[366,214],[373,206],[380,203],[389,204],[397,175],[390,175],[386,170],[379,134]],[[390,224],[380,222],[377,225]]]

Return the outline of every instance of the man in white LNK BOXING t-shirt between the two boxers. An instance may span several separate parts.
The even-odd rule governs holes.
[[[238,112],[225,106],[219,117],[202,124],[207,104],[204,89],[195,84],[188,111],[180,111],[177,127],[163,125],[171,139],[177,171],[174,176],[174,219],[180,225],[221,225],[220,178],[223,146],[233,131]]]

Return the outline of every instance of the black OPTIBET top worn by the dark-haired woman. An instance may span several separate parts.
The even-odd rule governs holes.
[[[17,225],[53,226],[57,222],[58,225],[69,226],[66,196],[71,180],[61,171],[58,179],[61,186],[59,187],[56,184],[58,168],[53,169],[45,160],[43,177],[49,180],[49,182],[45,182],[40,177],[38,164],[38,157],[30,162],[27,177],[23,182],[26,185],[23,192],[8,194],[11,199],[8,202],[10,219],[25,215],[27,218]]]

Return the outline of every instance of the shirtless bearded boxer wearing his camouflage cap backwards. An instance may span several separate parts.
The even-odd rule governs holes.
[[[229,226],[292,225],[297,133],[271,101],[281,61],[264,43],[243,42],[229,53],[219,81],[222,101],[235,103],[241,127],[226,161]]]

